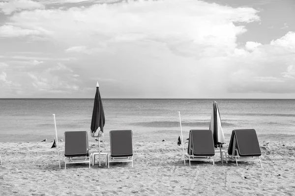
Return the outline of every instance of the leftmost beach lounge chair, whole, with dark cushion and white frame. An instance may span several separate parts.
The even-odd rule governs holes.
[[[89,144],[87,131],[64,132],[64,169],[66,164],[89,163]]]

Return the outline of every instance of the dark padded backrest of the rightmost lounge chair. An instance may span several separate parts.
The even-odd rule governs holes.
[[[240,157],[260,156],[261,150],[255,129],[233,130],[228,154],[232,155],[235,148]]]

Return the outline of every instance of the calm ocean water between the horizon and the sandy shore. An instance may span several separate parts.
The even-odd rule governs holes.
[[[65,131],[90,132],[94,99],[0,99],[0,142],[53,140]],[[178,138],[182,130],[208,129],[216,101],[223,131],[254,128],[257,134],[295,135],[295,100],[290,99],[103,99],[110,130],[132,129],[135,140]]]

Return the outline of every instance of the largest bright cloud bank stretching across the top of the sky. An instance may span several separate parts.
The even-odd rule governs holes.
[[[92,54],[118,42],[153,40],[166,43],[179,54],[186,54],[187,48],[210,53],[208,47],[218,51],[235,48],[236,36],[246,29],[233,23],[258,21],[257,12],[253,8],[231,8],[203,1],[130,0],[67,10],[21,12],[14,14],[9,24],[46,29],[51,33],[43,36],[51,37],[51,41],[77,46],[68,48],[68,52]]]

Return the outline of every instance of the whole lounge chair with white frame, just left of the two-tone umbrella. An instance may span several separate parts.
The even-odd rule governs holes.
[[[185,157],[191,161],[212,161],[214,165],[214,141],[211,130],[190,130]]]

